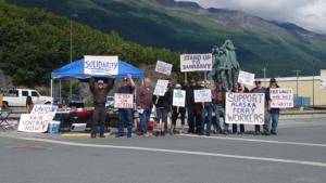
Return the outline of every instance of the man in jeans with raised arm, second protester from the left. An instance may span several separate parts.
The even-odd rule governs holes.
[[[125,97],[131,97],[131,106],[123,106],[124,108],[118,108],[118,123],[117,123],[117,133],[116,138],[124,135],[124,123],[127,123],[127,131],[128,138],[131,138],[133,133],[133,123],[134,123],[134,112],[133,112],[133,105],[134,105],[134,93],[135,91],[135,82],[130,75],[128,75],[128,78],[124,78],[123,86],[118,88],[117,93],[120,94],[127,94],[124,95]],[[126,99],[127,100],[127,99]],[[117,102],[116,100],[114,100]],[[131,107],[131,108],[130,108]]]

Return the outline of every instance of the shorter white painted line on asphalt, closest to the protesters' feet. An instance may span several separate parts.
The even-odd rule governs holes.
[[[229,138],[229,136],[204,136],[204,135],[199,136],[199,135],[195,135],[195,134],[179,134],[179,135],[180,136],[190,136],[190,138],[202,138],[202,139],[217,139],[217,140],[230,140],[230,141],[260,142],[260,143],[269,143],[269,144],[326,147],[326,144],[290,142],[290,141],[272,141],[272,140],[256,140],[256,139],[244,139],[244,138]]]

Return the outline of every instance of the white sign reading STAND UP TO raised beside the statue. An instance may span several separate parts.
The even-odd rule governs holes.
[[[208,54],[181,54],[181,71],[211,71],[213,63],[212,53]]]

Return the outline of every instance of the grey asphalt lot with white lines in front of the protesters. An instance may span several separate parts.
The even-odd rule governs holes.
[[[283,119],[277,136],[0,132],[0,182],[325,183],[325,132],[324,117]]]

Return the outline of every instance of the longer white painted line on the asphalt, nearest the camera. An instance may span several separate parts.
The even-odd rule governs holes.
[[[267,158],[267,157],[253,157],[253,156],[228,155],[228,154],[216,154],[216,153],[205,153],[205,152],[190,152],[190,151],[178,151],[178,149],[164,149],[164,148],[150,148],[150,147],[136,147],[136,146],[86,144],[86,143],[63,142],[63,141],[47,140],[47,139],[34,139],[34,138],[17,138],[17,139],[27,140],[27,141],[36,141],[36,142],[46,142],[46,143],[52,143],[52,144],[70,145],[70,146],[80,146],[80,147],[135,149],[135,151],[142,151],[142,152],[159,152],[159,153],[170,153],[170,154],[212,156],[212,157],[235,158],[235,159],[244,159],[244,160],[258,160],[258,161],[267,161],[267,162],[296,164],[296,165],[305,165],[305,166],[326,168],[326,164],[323,164],[323,162],[302,161],[302,160],[293,160],[293,159],[278,159],[278,158]]]

